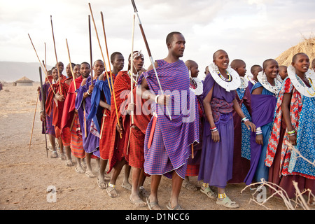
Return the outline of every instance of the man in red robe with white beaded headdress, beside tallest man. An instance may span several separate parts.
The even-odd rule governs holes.
[[[137,83],[141,81],[139,78],[140,74],[143,72],[144,57],[141,52],[134,52],[133,54],[133,83],[134,88],[132,90],[134,103],[131,102],[130,94],[127,99],[127,109],[123,111],[123,123],[130,120],[130,111],[134,111],[133,120],[131,123],[130,134],[127,145],[127,163],[132,167],[132,192],[130,195],[130,202],[137,207],[145,207],[146,202],[141,200],[140,196],[148,197],[146,190],[144,189],[144,181],[146,175],[144,174],[144,137],[146,134],[146,128],[151,120],[151,104],[147,102],[147,99],[142,99],[137,95]],[[128,66],[128,73],[131,75],[131,64]],[[127,137],[126,137],[127,138]]]

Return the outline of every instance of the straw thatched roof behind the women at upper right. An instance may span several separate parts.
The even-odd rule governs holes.
[[[276,61],[279,65],[289,66],[292,62],[292,58],[295,54],[299,52],[304,52],[309,56],[310,61],[315,58],[315,38],[304,38],[304,41],[298,43],[297,45],[289,48],[283,52]]]

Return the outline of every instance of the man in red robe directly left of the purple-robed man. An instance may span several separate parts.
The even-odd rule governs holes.
[[[69,64],[66,67],[68,68]],[[71,73],[71,76],[72,76],[72,73]],[[62,135],[69,136],[65,138],[69,140],[67,140],[67,142],[64,142],[64,146],[66,150],[69,150],[70,153],[72,153],[72,155],[74,155],[74,157],[76,158],[76,162],[77,162],[76,172],[83,173],[83,168],[80,163],[80,159],[85,157],[84,153],[82,155],[82,152],[84,152],[83,145],[79,139],[77,139],[79,141],[73,141],[74,139],[77,138],[76,131],[78,128],[78,116],[77,116],[76,107],[75,107],[75,103],[76,103],[75,91],[78,89],[78,87],[80,87],[80,84],[83,80],[83,76],[80,76],[80,64],[73,66],[73,76],[75,78],[75,81],[71,82],[68,93],[66,95],[66,99],[64,100],[64,110],[62,111],[61,127],[62,127]],[[75,122],[76,122],[76,125],[74,125]],[[66,152],[68,153],[68,151]],[[71,158],[71,155],[70,155],[70,158]]]

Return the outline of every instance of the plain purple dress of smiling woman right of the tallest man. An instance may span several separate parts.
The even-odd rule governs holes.
[[[218,85],[211,75],[204,80],[203,96],[214,87],[212,98],[224,100],[232,107],[235,99],[235,91],[227,92]],[[231,110],[228,110],[231,111]],[[204,136],[202,144],[202,160],[200,162],[199,181],[210,183],[211,186],[225,188],[226,184],[232,179],[233,147],[234,147],[234,123],[232,112],[219,114],[218,121],[215,122],[220,134],[220,141],[214,143],[211,139],[210,124],[204,120]]]

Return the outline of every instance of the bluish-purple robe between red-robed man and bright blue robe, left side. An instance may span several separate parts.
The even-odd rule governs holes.
[[[94,84],[95,80],[93,80],[93,85]],[[86,153],[93,153],[93,155],[99,157],[99,137],[90,132],[92,120],[87,119],[87,116],[89,116],[91,110],[91,96],[83,100],[83,94],[87,92],[90,85],[91,76],[87,78],[85,85],[80,86],[77,90],[78,94],[76,96],[76,110],[78,111],[78,118],[82,130],[83,148]],[[84,109],[87,137],[85,137]]]

